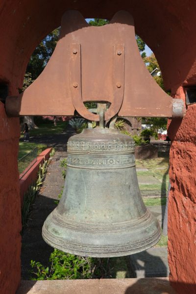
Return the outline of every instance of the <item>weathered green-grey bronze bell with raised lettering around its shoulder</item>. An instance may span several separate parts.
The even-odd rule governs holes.
[[[65,187],[44,223],[44,240],[92,257],[124,256],[155,245],[161,230],[140,194],[133,139],[96,127],[71,137],[67,147]]]

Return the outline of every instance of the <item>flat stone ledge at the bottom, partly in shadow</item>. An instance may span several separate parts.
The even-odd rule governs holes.
[[[175,294],[169,278],[22,281],[16,294]]]

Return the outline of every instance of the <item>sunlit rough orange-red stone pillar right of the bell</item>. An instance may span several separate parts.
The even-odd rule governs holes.
[[[182,87],[176,98],[185,98]],[[168,206],[170,280],[178,294],[196,293],[196,104],[172,120]]]

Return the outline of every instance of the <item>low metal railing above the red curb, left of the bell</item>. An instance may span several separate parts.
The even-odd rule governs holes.
[[[36,147],[18,160],[20,179],[37,161],[37,154],[38,154],[38,148]]]

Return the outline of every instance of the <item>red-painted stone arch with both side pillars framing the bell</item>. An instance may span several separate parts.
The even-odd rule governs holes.
[[[111,19],[129,11],[136,33],[153,50],[165,87],[185,98],[183,86],[196,84],[196,2],[193,0],[1,0],[0,82],[17,95],[31,53],[55,27],[67,9],[85,18]],[[196,283],[196,104],[183,120],[173,119],[169,131],[172,190],[169,203],[169,264],[171,280]],[[20,283],[21,216],[17,168],[19,120],[7,118],[0,102],[0,292],[15,293]],[[176,286],[177,287],[177,286]],[[178,293],[188,292],[182,284]],[[191,289],[191,288],[189,288]],[[181,291],[181,292],[180,292]],[[191,292],[192,291],[192,292]]]

